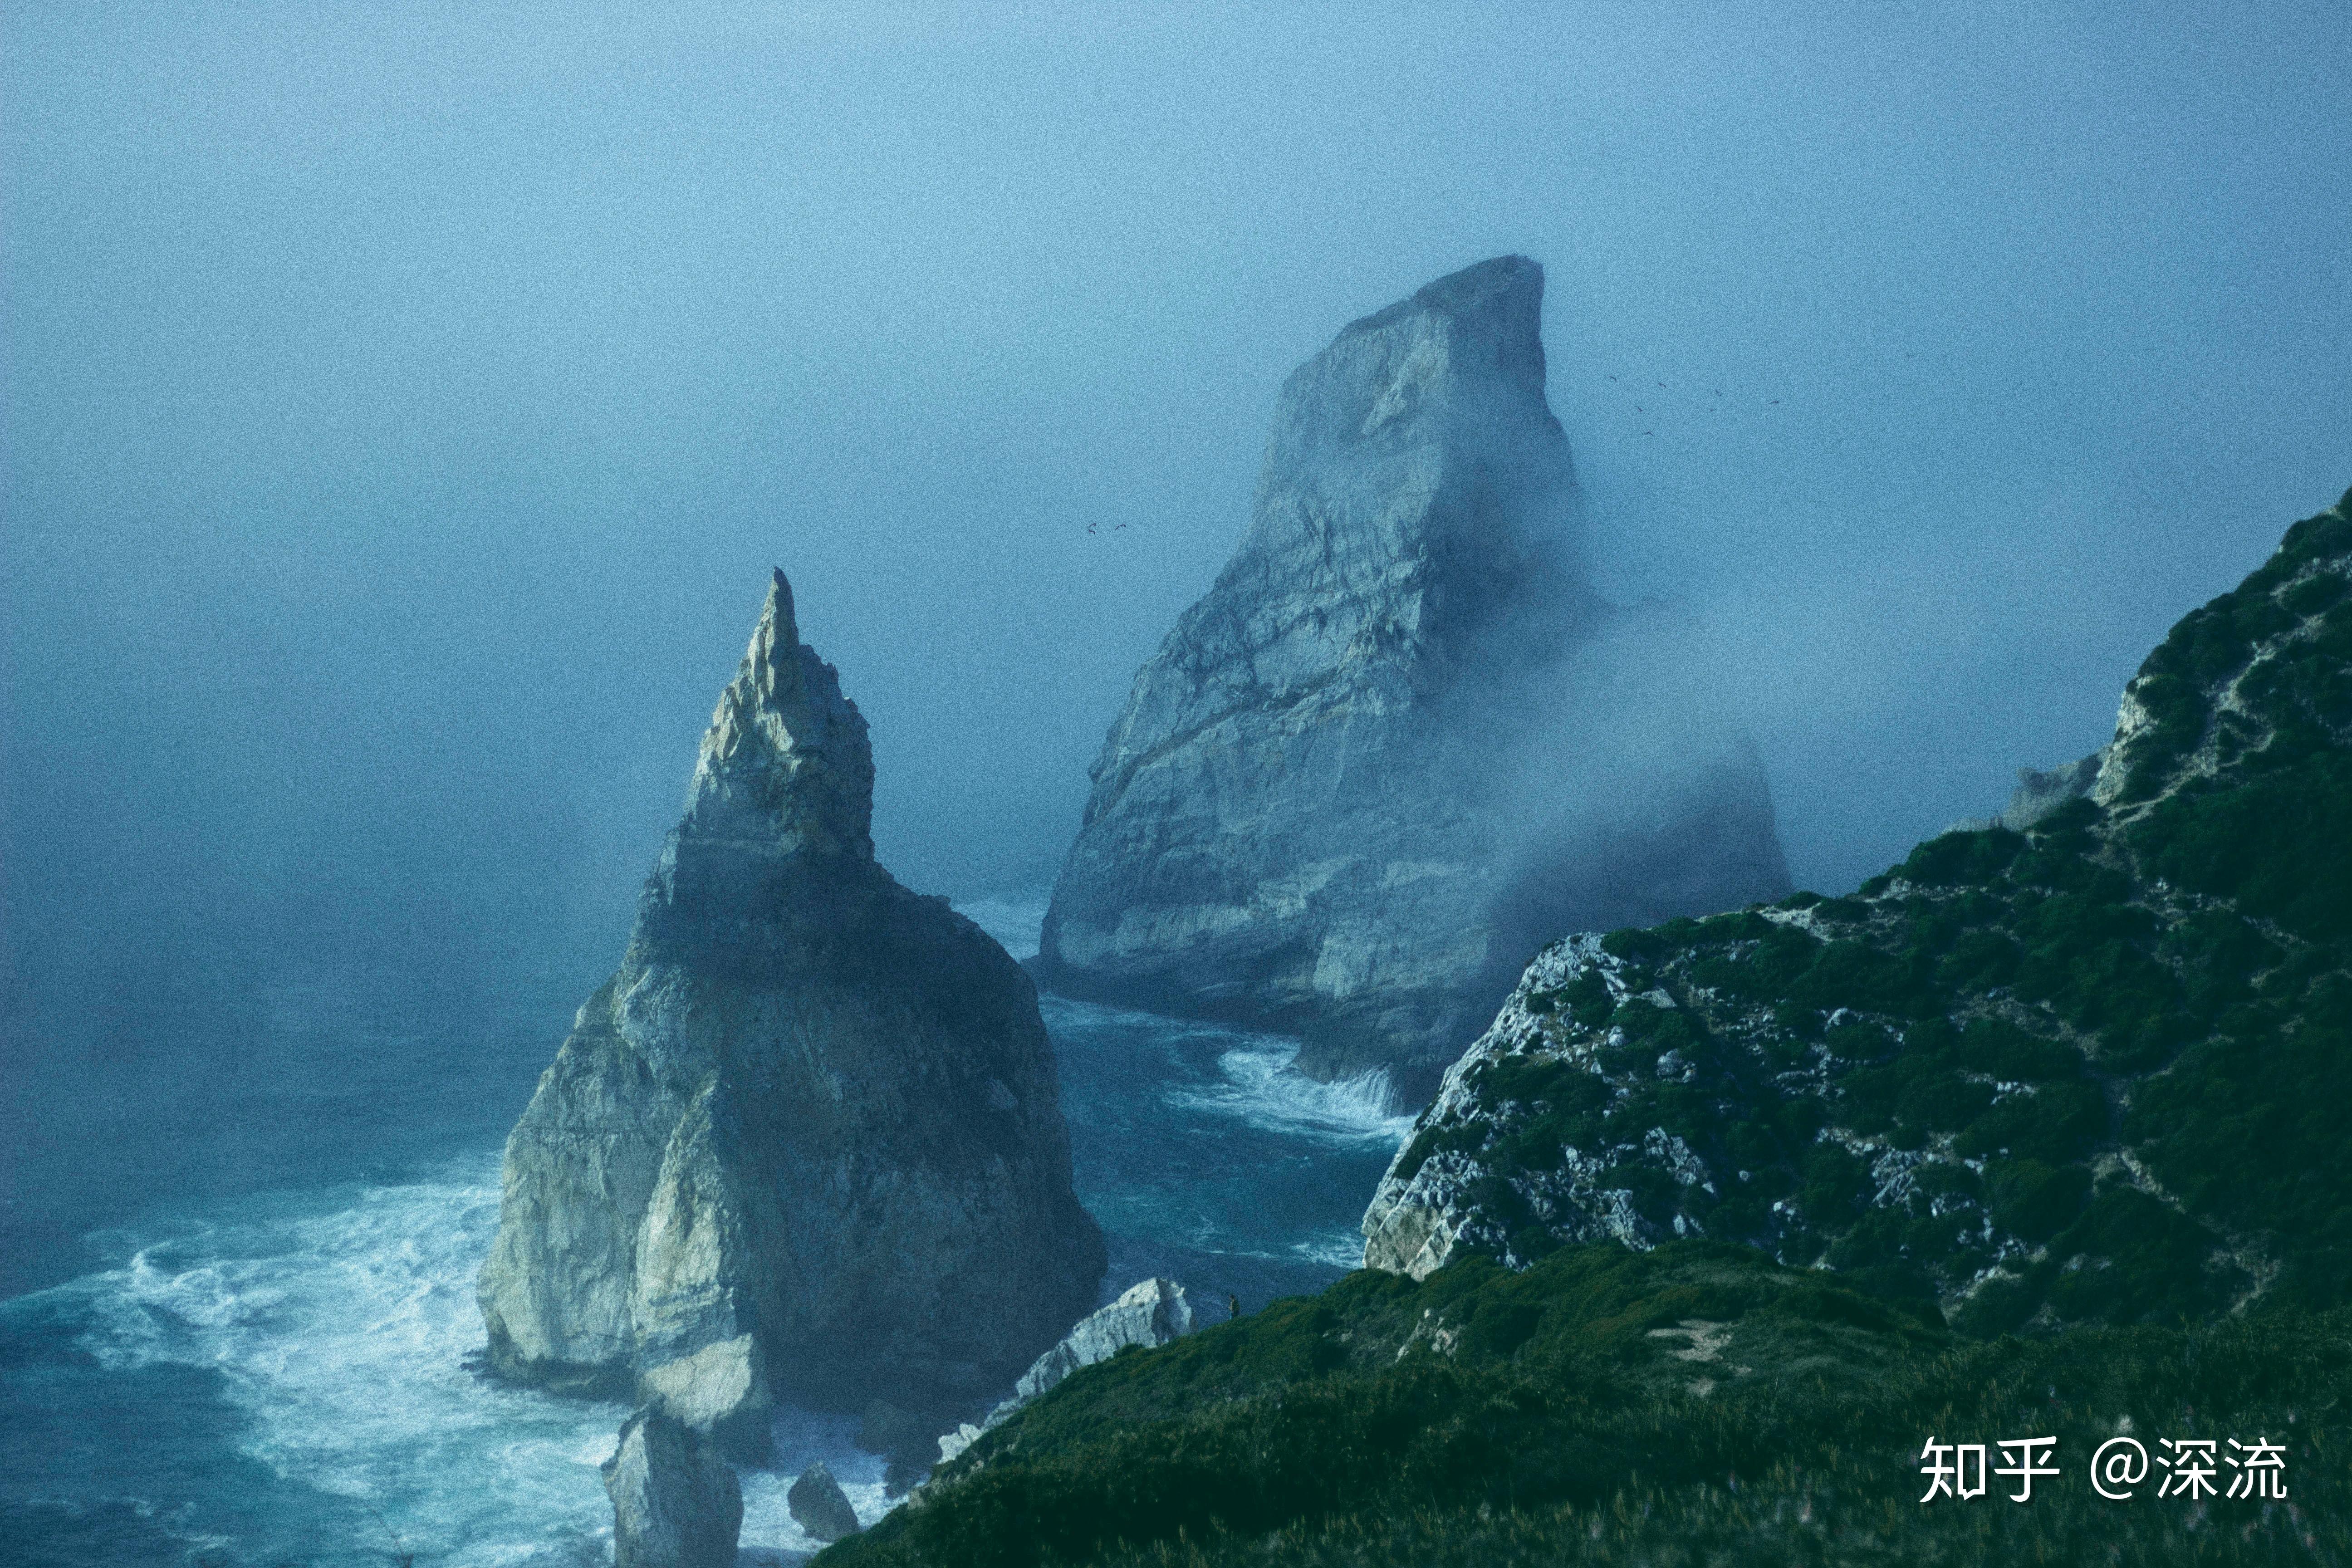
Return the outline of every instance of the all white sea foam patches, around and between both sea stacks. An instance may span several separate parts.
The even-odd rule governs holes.
[[[1042,898],[1004,898],[974,912],[1018,947],[1042,907]],[[1047,1011],[1056,1032],[1138,1051],[1134,1093],[1155,1107],[1185,1100],[1202,1131],[1228,1121],[1294,1147],[1369,1152],[1411,1128],[1409,1117],[1390,1114],[1376,1079],[1315,1084],[1298,1074],[1289,1039],[1051,997]],[[1202,1081],[1209,1063],[1214,1077]],[[1167,1088],[1171,1067],[1190,1079],[1183,1088]],[[1178,1204],[1167,1229],[1183,1234],[1188,1208]],[[388,1549],[416,1552],[435,1568],[609,1563],[612,1507],[597,1465],[626,1408],[466,1371],[482,1345],[473,1276],[496,1218],[492,1152],[433,1180],[263,1194],[212,1222],[118,1239],[120,1267],[42,1293],[35,1309],[61,1309],[56,1319],[78,1326],[78,1347],[99,1375],[148,1366],[214,1373],[235,1410],[226,1439],[289,1483],[266,1509],[247,1507],[254,1500],[245,1495],[240,1507],[167,1500],[169,1519],[160,1521],[191,1549],[320,1568],[381,1568]],[[1357,1260],[1343,1229],[1301,1237],[1275,1227],[1251,1237],[1251,1248],[1235,1246],[1242,1237],[1207,1211],[1197,1220],[1190,1244],[1202,1251],[1327,1267]],[[21,1307],[33,1302],[9,1302]],[[786,1488],[809,1460],[826,1460],[863,1523],[889,1509],[882,1462],[851,1436],[844,1418],[779,1418],[771,1469],[743,1474],[750,1563],[816,1549],[786,1507]],[[223,1483],[235,1483],[228,1472]],[[219,1535],[228,1519],[238,1540]]]

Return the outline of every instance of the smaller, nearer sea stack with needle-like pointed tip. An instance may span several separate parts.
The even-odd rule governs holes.
[[[1094,1295],[1037,994],[875,863],[870,802],[779,571],[628,954],[508,1138],[499,1373],[633,1385],[757,1455],[779,1392],[969,1406]]]

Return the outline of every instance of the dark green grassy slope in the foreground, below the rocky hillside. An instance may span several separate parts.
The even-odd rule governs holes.
[[[2352,1549],[2347,1415],[2340,1316],[1980,1342],[1748,1248],[1597,1244],[1124,1352],[818,1561],[2305,1561]],[[2119,1429],[2284,1443],[2296,1512],[2107,1502],[2089,1460]],[[1919,1507],[1929,1436],[2058,1436],[2063,1474]]]

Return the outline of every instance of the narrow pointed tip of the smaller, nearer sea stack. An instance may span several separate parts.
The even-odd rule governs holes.
[[[703,731],[680,835],[870,860],[873,795],[866,717],[842,696],[833,665],[800,639],[793,583],[779,569]]]

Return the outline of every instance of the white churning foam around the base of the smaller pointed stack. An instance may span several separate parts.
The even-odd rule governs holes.
[[[499,1222],[494,1175],[485,1159],[437,1182],[275,1199],[278,1213],[249,1204],[240,1222],[143,1246],[59,1291],[82,1298],[80,1347],[101,1366],[216,1371],[247,1418],[247,1458],[379,1514],[362,1533],[383,1540],[308,1542],[306,1559],[343,1556],[341,1544],[381,1561],[397,1542],[454,1568],[609,1563],[597,1465],[626,1406],[499,1387],[463,1366],[482,1345],[473,1274]],[[887,1512],[882,1462],[851,1432],[786,1410],[781,1469],[743,1474],[746,1547],[816,1549],[783,1502],[814,1458],[861,1521]]]

